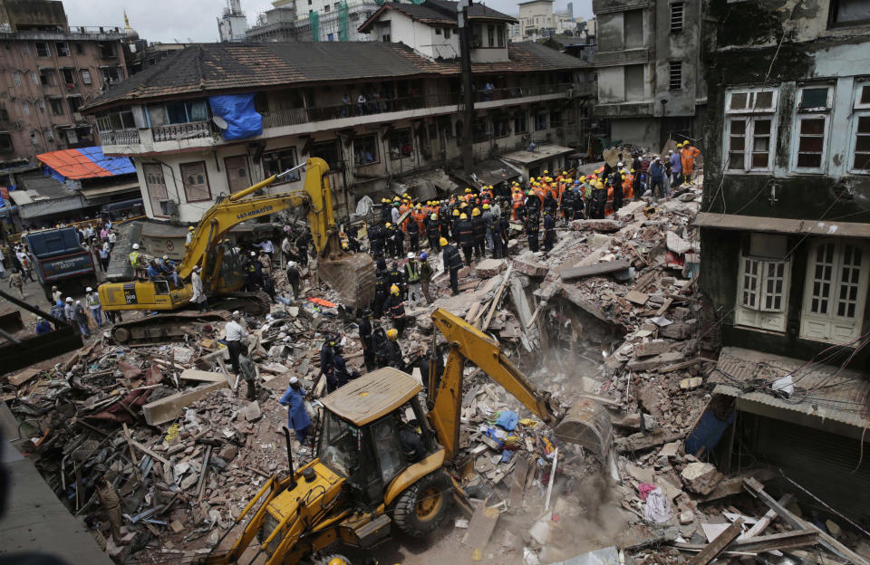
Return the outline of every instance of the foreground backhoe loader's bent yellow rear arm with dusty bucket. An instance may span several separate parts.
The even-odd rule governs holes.
[[[613,428],[609,414],[600,403],[581,398],[575,406],[565,410],[549,392],[537,390],[514,367],[501,353],[498,341],[444,309],[435,309],[431,318],[450,345],[444,375],[429,413],[439,442],[447,451],[446,459],[452,459],[459,452],[462,369],[465,361],[469,360],[553,428],[557,438],[583,445],[604,461],[610,448]]]

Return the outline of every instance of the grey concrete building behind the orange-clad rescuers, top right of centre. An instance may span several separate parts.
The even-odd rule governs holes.
[[[702,131],[701,0],[593,0],[599,117],[612,139],[658,151]],[[737,7],[735,10],[739,11]]]

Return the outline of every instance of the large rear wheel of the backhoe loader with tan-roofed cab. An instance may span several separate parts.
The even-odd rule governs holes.
[[[392,519],[401,531],[420,538],[444,522],[453,502],[453,484],[441,469],[427,474],[396,498]]]

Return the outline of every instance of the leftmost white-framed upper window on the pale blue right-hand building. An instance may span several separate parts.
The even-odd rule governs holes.
[[[758,95],[761,92],[770,92],[770,105],[762,108],[757,107]],[[747,103],[743,108],[731,109],[731,101],[735,94],[746,94]],[[725,127],[723,128],[726,162],[723,164],[725,174],[770,172],[773,170],[773,160],[777,148],[778,120],[777,109],[779,102],[779,89],[775,88],[739,88],[727,91],[725,94]],[[746,131],[743,134],[743,168],[730,167],[731,153],[731,120],[746,120]],[[755,123],[758,120],[770,120],[770,146],[768,148],[768,163],[765,167],[752,166],[752,148],[755,141]]]

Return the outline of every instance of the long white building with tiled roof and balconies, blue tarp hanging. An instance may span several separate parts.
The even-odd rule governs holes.
[[[190,46],[87,111],[97,116],[107,154],[135,158],[151,218],[196,222],[218,195],[313,156],[329,163],[336,209],[346,214],[362,196],[385,196],[391,179],[450,169],[459,158],[460,64],[446,57],[447,45],[459,53],[456,4],[430,6],[424,23],[427,5],[384,5],[361,27],[383,40],[389,24],[391,43]],[[476,6],[469,18],[478,38],[471,53],[475,157],[527,148],[532,140],[570,145],[580,139],[578,101],[591,91],[578,76],[589,65],[543,45],[508,45],[512,18]],[[420,54],[433,38],[442,41],[440,60]],[[395,43],[400,40],[409,43]],[[209,104],[221,94],[252,95],[262,132],[225,139]],[[562,167],[565,159],[551,163]],[[271,189],[295,189],[300,180]]]

